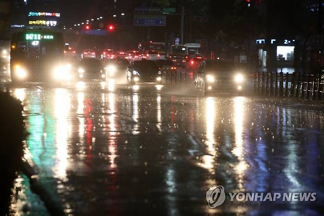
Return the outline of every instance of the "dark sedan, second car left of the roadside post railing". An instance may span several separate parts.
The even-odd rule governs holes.
[[[136,61],[127,72],[127,81],[134,82],[162,82],[162,72],[154,61]]]

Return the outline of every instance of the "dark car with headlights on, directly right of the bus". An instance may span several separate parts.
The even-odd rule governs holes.
[[[99,59],[87,58],[80,61],[77,69],[77,78],[106,80],[106,72]]]

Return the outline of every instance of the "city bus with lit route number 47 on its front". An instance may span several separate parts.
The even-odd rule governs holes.
[[[64,61],[63,34],[28,29],[11,36],[10,75],[13,83],[71,79],[71,65]]]

